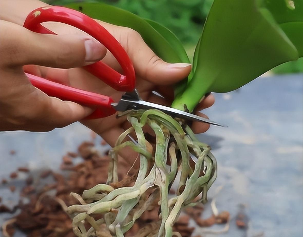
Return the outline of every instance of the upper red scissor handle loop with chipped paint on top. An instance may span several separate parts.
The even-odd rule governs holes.
[[[65,7],[42,7],[32,11],[24,22],[24,27],[37,32],[55,34],[42,26],[42,22],[62,22],[72,25],[102,43],[117,59],[125,75],[121,75],[101,61],[84,66],[83,68],[104,81],[118,91],[132,91],[135,89],[135,70],[132,61],[121,44],[105,28],[92,18]]]

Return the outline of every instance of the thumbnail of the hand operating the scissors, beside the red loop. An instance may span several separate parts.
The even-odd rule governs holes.
[[[104,47],[98,41],[94,39],[86,39],[84,46],[86,52],[86,64],[97,62],[104,57]]]

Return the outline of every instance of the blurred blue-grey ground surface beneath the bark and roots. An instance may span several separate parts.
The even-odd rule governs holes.
[[[216,196],[218,210],[229,211],[231,222],[226,233],[213,234],[202,228],[197,233],[209,237],[303,236],[302,93],[300,74],[261,77],[240,90],[216,94],[215,105],[204,112],[229,127],[211,127],[199,139],[211,145],[218,160],[218,178],[209,198]],[[0,178],[7,178],[19,166],[33,172],[58,169],[62,155],[89,138],[90,131],[78,123],[49,133],[0,133]],[[11,155],[11,150],[16,154]],[[21,186],[24,177],[12,184]],[[13,206],[19,190],[12,194],[7,186],[0,186],[2,203]],[[215,195],[218,187],[222,190]],[[205,217],[211,214],[209,203]],[[240,204],[245,205],[249,218],[245,230],[235,225]],[[0,224],[9,216],[0,215]],[[18,232],[15,236],[24,235]]]

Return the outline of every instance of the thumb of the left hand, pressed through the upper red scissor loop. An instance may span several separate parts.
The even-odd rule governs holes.
[[[3,24],[1,27],[5,30]],[[100,42],[86,36],[38,34],[11,22],[5,22],[4,28],[9,28],[11,35],[2,37],[2,44],[6,46],[3,48],[18,52],[10,58],[10,66],[80,67],[101,60],[107,51]]]

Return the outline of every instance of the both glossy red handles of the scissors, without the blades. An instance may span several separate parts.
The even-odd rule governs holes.
[[[37,33],[55,34],[41,25],[42,22],[49,21],[72,25],[98,40],[117,59],[125,75],[121,75],[101,61],[85,66],[84,69],[103,80],[115,90],[132,91],[135,89],[135,70],[132,61],[120,43],[95,20],[69,8],[52,6],[32,11],[25,19],[24,27]],[[35,87],[49,96],[55,96],[62,100],[69,100],[96,108],[87,119],[107,117],[116,112],[111,106],[113,100],[108,96],[75,89],[32,74],[25,74]]]

